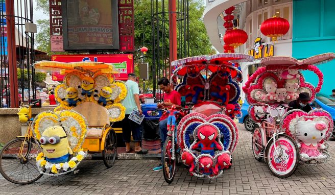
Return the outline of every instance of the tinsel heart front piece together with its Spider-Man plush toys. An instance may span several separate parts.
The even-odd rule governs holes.
[[[190,135],[193,134],[193,139]],[[197,177],[218,177],[231,166],[238,131],[225,114],[205,116],[191,113],[183,117],[177,128],[177,142],[184,164]]]

